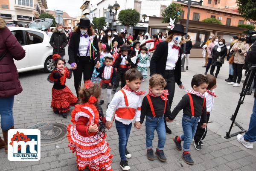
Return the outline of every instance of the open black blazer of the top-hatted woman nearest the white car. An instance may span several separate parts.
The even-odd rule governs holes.
[[[78,61],[77,53],[79,49],[79,43],[80,43],[80,32],[72,32],[72,36],[70,38],[70,44],[68,46],[68,55],[69,55],[69,60],[68,63],[72,64],[73,62]],[[98,39],[97,36],[93,38],[93,46],[96,48],[97,53],[96,55],[94,54],[95,58],[94,64],[97,64],[97,61],[100,60],[99,58],[99,46],[98,46]],[[93,56],[93,50],[91,51],[91,56]]]

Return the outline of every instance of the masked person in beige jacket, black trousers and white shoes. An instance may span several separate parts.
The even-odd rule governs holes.
[[[246,35],[242,34],[238,39],[233,47],[231,48],[230,52],[234,54],[234,61],[233,61],[233,81],[228,83],[229,85],[233,85],[233,87],[240,87],[240,82],[242,78],[242,70],[244,66],[244,53],[246,53],[249,49],[249,45],[246,43]]]

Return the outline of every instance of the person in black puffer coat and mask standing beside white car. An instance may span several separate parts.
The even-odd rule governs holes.
[[[57,24],[56,28],[53,30],[49,43],[53,47],[52,55],[56,53],[63,59],[68,41],[61,24]]]

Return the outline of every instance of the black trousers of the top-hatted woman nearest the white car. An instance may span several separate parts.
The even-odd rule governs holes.
[[[81,59],[82,58],[82,59]],[[80,57],[79,61],[76,62],[76,70],[73,71],[74,73],[74,82],[75,82],[75,89],[76,89],[76,96],[79,97],[79,90],[81,86],[82,74],[84,74],[84,81],[90,80],[93,75],[94,64],[90,61],[90,57]]]

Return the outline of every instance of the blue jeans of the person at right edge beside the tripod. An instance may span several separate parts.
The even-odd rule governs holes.
[[[244,139],[249,142],[256,141],[256,98],[254,98],[253,114],[250,118],[248,131],[244,134]]]

